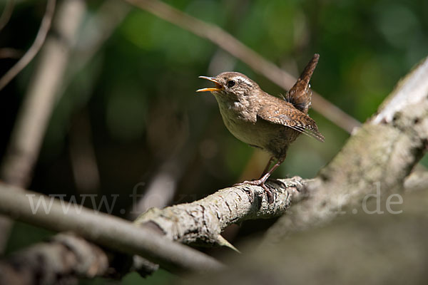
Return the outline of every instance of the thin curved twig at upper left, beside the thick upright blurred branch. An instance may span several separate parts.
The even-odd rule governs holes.
[[[40,51],[40,48],[43,46],[46,39],[46,35],[48,34],[49,28],[51,28],[52,16],[54,16],[55,11],[55,1],[56,0],[48,0],[48,3],[46,4],[46,12],[41,20],[39,32],[37,33],[34,43],[24,56],[15,63],[15,65],[12,66],[12,68],[9,69],[3,77],[0,78],[0,90],[11,82],[11,80],[14,79],[14,77],[20,73]]]

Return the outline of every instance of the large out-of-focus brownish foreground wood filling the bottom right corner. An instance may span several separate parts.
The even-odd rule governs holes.
[[[253,240],[226,269],[180,284],[427,284],[428,188],[402,197],[401,214],[351,212],[275,247]]]

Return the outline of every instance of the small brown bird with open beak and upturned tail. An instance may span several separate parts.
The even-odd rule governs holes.
[[[215,83],[213,88],[203,88],[196,92],[213,93],[230,133],[248,145],[259,147],[272,155],[259,180],[238,184],[263,187],[269,202],[272,202],[273,196],[265,182],[285,160],[290,143],[301,133],[324,141],[317,124],[307,115],[312,95],[309,81],[318,58],[318,54],[312,57],[284,100],[267,94],[257,83],[238,72],[224,72],[215,77],[199,76]],[[269,170],[273,159],[277,162]]]

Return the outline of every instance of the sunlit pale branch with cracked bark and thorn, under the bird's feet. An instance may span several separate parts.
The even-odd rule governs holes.
[[[151,208],[135,223],[143,226],[152,224],[168,239],[185,244],[216,244],[235,249],[220,235],[225,227],[245,219],[272,218],[284,214],[292,202],[305,197],[306,183],[300,177],[269,182],[267,185],[274,190],[271,204],[267,202],[261,187],[230,187],[189,204]]]

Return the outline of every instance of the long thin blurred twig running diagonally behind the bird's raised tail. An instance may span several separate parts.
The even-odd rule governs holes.
[[[245,46],[238,41],[237,38],[223,31],[223,29],[213,24],[205,23],[200,19],[183,13],[168,4],[158,0],[126,0],[128,3],[137,6],[140,9],[146,10],[149,13],[158,16],[159,18],[168,21],[176,26],[180,26],[187,31],[195,33],[201,38],[206,38],[216,45],[223,48],[228,53],[232,54],[240,61],[248,64],[257,73],[262,74],[267,79],[277,84],[285,90],[290,88],[296,82],[296,78],[289,73],[282,71],[282,69],[275,66],[275,64],[267,61],[263,56],[256,53],[252,49]],[[318,113],[322,114],[328,120],[338,125],[340,128],[350,133],[355,127],[360,126],[361,123],[352,118],[347,113],[337,108],[336,105],[330,103],[318,93],[312,92],[313,108]]]

